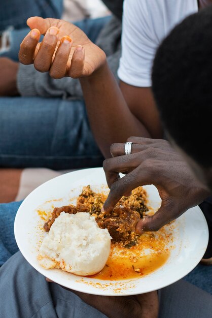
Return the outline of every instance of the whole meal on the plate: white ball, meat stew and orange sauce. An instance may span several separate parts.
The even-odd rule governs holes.
[[[156,233],[146,232],[143,235],[135,233],[137,221],[154,213],[151,208],[148,209],[149,202],[146,190],[142,186],[137,187],[132,191],[130,197],[122,197],[116,207],[107,213],[101,211],[106,198],[107,196],[103,191],[95,193],[88,185],[83,187],[82,193],[77,198],[72,198],[71,202],[73,203],[73,200],[76,200],[76,206],[69,204],[54,208],[55,205],[53,204],[49,212],[38,211],[38,214],[46,220],[42,227],[46,232],[49,232],[46,236],[49,239],[45,238],[40,248],[39,261],[42,266],[45,268],[62,268],[78,275],[86,275],[100,280],[120,280],[136,279],[147,275],[157,270],[167,261],[170,255],[168,245],[170,247],[172,241],[170,228],[167,230],[165,227]],[[83,247],[86,251],[83,253],[88,255],[88,259],[85,259],[76,268],[78,246],[81,246],[79,242],[83,237],[80,232],[77,236],[79,242],[74,243],[76,250],[69,250],[72,245],[65,240],[62,240],[63,248],[61,248],[61,240],[60,243],[57,243],[60,252],[52,248],[54,241],[57,241],[59,237],[54,230],[57,222],[59,221],[60,224],[61,217],[64,218],[65,216],[69,220],[69,217],[70,219],[78,218],[78,215],[82,215],[81,218],[83,215],[87,215],[86,217],[91,218],[94,222],[95,229],[107,231],[107,240],[110,241],[110,245],[107,244],[99,251],[101,263],[96,260],[94,262],[94,258],[90,258],[90,247],[89,244],[85,243],[86,245]],[[66,232],[67,237],[69,237],[72,231],[68,226],[62,224],[60,226],[60,237],[66,237]],[[80,228],[80,225],[75,226],[75,230],[78,228]],[[92,235],[95,236],[94,231],[92,231]],[[104,233],[104,235],[106,234]],[[75,237],[73,241],[75,242]],[[84,241],[87,242],[87,238]],[[98,239],[94,239],[96,244],[97,241]],[[87,261],[90,262],[89,266],[86,264]],[[83,270],[80,266],[83,266]]]

